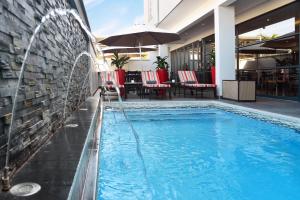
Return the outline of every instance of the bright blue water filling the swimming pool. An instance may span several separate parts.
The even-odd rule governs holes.
[[[300,134],[213,108],[104,113],[98,199],[300,199]]]

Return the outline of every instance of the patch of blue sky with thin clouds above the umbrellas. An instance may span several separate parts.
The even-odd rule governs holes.
[[[98,37],[144,23],[144,0],[83,0],[92,33]]]

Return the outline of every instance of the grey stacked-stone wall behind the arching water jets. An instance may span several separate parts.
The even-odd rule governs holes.
[[[0,1],[0,171],[4,167],[12,101],[25,49],[42,16],[53,8],[63,8],[64,2]],[[18,93],[11,138],[11,169],[18,168],[61,126],[71,68],[77,55],[84,50],[88,51],[88,38],[72,16],[48,20],[41,28],[26,61]],[[76,109],[89,66],[89,58],[83,56],[75,68],[68,114]]]

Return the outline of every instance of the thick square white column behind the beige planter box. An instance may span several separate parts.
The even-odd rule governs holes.
[[[217,95],[222,96],[222,81],[235,80],[234,7],[218,6],[214,14]]]

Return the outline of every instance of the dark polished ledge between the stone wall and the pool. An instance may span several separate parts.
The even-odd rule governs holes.
[[[12,185],[34,182],[41,185],[40,192],[29,197],[16,197],[10,193],[0,192],[0,199],[67,199],[97,104],[97,97],[88,98],[86,103],[88,110],[74,112],[67,122],[67,124],[76,123],[79,126],[58,130],[50,141],[14,177]]]

